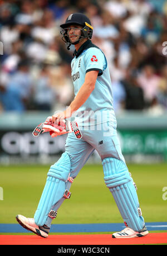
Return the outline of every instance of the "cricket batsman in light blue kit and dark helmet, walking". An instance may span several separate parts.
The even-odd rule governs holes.
[[[43,131],[49,131],[52,138],[68,132],[65,153],[48,170],[34,217],[17,215],[16,219],[24,228],[47,238],[58,208],[64,200],[70,199],[72,182],[96,149],[104,170],[104,182],[125,223],[125,229],[112,234],[112,238],[145,236],[148,230],[139,206],[136,186],[117,136],[106,57],[101,49],[92,44],[93,27],[84,14],[72,13],[60,27],[67,49],[75,45],[71,61],[75,98],[65,111],[48,118],[49,122],[45,124],[49,125],[44,126]],[[65,126],[65,120],[74,116],[80,130],[78,133],[67,131]],[[96,176],[92,182],[96,182]]]

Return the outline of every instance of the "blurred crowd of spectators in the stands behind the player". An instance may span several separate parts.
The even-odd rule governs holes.
[[[60,24],[85,13],[110,68],[114,109],[167,111],[167,0],[0,0],[0,112],[55,111],[72,101]]]

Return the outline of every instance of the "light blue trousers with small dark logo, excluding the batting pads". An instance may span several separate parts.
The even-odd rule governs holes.
[[[76,139],[75,135],[69,133],[66,139],[65,151],[70,157],[70,176],[75,178],[90,155],[97,150],[101,161],[105,158],[116,158],[125,163],[121,153],[120,141],[117,136],[116,123],[105,122],[97,126],[80,127],[82,139]],[[92,181],[93,182],[93,181]],[[66,189],[70,189],[71,183],[66,182]],[[53,207],[57,211],[65,197],[62,197]],[[47,217],[45,224],[51,226],[52,219]]]

